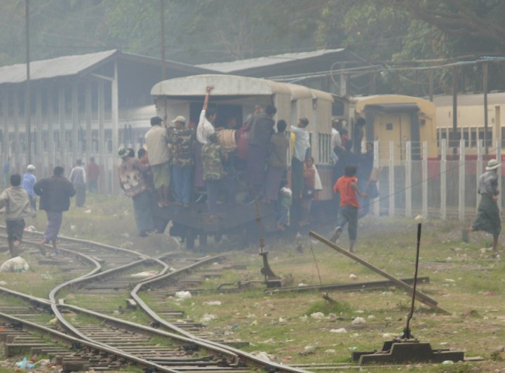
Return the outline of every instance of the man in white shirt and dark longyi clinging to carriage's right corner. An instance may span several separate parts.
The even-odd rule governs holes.
[[[309,126],[307,118],[299,118],[297,126],[291,125],[291,132],[295,133],[295,147],[291,158],[291,190],[295,199],[302,198],[304,191],[303,163],[310,147],[307,126]]]

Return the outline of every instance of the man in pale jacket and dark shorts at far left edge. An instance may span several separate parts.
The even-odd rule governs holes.
[[[11,175],[11,187],[0,194],[0,212],[5,213],[7,243],[11,257],[19,255],[22,233],[25,229],[25,217],[35,217],[35,210],[30,204],[27,191],[21,186],[21,176]]]

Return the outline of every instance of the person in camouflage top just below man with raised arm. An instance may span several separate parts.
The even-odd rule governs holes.
[[[207,208],[210,219],[217,213],[217,196],[220,191],[227,192],[227,203],[235,203],[235,182],[224,172],[221,146],[217,143],[217,133],[208,137],[202,147],[203,179],[207,186]]]

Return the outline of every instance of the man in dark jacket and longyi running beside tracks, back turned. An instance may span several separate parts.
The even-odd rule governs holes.
[[[68,211],[70,207],[70,198],[76,193],[74,186],[69,182],[61,166],[56,166],[53,170],[53,176],[41,179],[34,185],[34,191],[40,196],[39,210],[46,211],[48,224],[44,232],[41,245],[53,243],[55,250],[56,239],[60,232],[63,212]]]

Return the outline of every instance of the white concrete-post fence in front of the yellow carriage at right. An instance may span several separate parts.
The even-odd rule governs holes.
[[[476,154],[467,154],[464,140],[459,147],[450,149],[446,140],[440,141],[438,156],[428,156],[429,144],[420,144],[418,156],[412,157],[411,142],[405,142],[405,154],[395,154],[395,143],[389,143],[389,157],[381,158],[384,144],[375,142],[375,167],[379,174],[379,197],[372,203],[375,215],[436,217],[464,220],[476,213],[480,196],[477,193],[478,178],[490,158],[501,161],[501,140],[487,156],[483,155],[482,141]],[[436,146],[436,144],[431,144]],[[502,169],[498,169],[499,188]],[[504,199],[499,194],[499,207]]]

